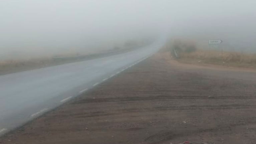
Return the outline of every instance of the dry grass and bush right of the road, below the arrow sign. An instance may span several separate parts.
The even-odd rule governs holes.
[[[165,49],[183,63],[256,68],[256,54],[199,49],[195,42],[187,40],[173,40]]]

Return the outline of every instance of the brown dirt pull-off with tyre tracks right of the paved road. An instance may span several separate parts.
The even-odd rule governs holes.
[[[256,72],[158,53],[0,138],[1,144],[256,144]]]

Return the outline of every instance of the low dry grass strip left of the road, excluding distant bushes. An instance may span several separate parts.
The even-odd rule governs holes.
[[[20,72],[25,70],[38,69],[48,66],[60,65],[65,63],[77,62],[81,60],[88,60],[93,58],[99,58],[103,56],[124,53],[132,51],[135,48],[125,49],[112,49],[90,53],[75,53],[75,52],[63,52],[58,55],[48,55],[44,57],[25,57],[23,59],[9,59],[0,60],[0,75]],[[64,58],[63,58],[64,57]]]

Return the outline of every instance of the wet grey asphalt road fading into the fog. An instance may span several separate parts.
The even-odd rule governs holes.
[[[0,135],[61,105],[154,54],[149,47],[114,56],[0,76]]]

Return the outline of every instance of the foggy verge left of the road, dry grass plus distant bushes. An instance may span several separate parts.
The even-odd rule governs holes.
[[[153,41],[154,39],[150,38],[127,40],[122,44],[114,45],[112,49],[110,48],[94,53],[78,53],[75,51],[69,51],[60,52],[57,55],[44,55],[41,57],[23,56],[22,58],[19,56],[19,58],[0,60],[0,75],[124,53],[150,45]]]

